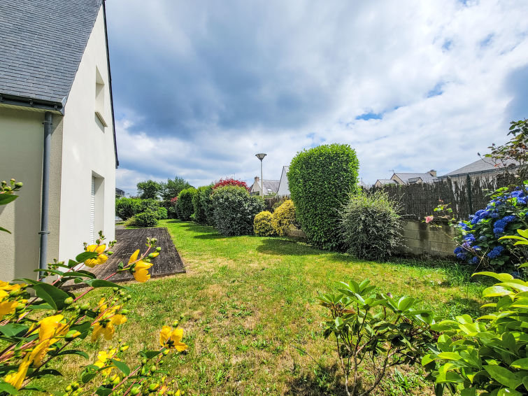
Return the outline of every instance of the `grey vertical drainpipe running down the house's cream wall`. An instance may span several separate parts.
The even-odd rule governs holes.
[[[50,112],[44,113],[44,148],[42,158],[42,201],[41,201],[41,231],[38,232],[41,236],[41,250],[40,259],[38,261],[38,269],[46,269],[48,263],[48,211],[50,206],[50,152],[51,152],[51,126],[52,114]],[[39,278],[43,273],[39,273]]]

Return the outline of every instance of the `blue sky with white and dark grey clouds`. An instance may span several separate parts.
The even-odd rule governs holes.
[[[278,180],[345,143],[372,184],[446,174],[528,118],[528,1],[106,1],[116,186]]]

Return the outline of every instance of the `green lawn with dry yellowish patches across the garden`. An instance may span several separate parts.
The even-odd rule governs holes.
[[[315,298],[336,281],[369,278],[385,292],[420,298],[442,316],[478,313],[481,304],[482,286],[452,263],[362,261],[290,239],[226,238],[179,220],[161,225],[187,274],[131,283],[129,323],[116,338],[129,341],[132,364],[137,351],[157,345],[157,329],[183,316],[190,348],[167,365],[188,395],[342,395],[334,343],[322,337],[325,312]],[[107,344],[92,346],[92,357]],[[80,362],[65,363],[63,371]],[[59,385],[72,379],[66,375]],[[408,367],[391,372],[378,389],[418,393],[432,394],[431,387],[420,369]]]

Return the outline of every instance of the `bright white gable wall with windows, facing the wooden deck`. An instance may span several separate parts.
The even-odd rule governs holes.
[[[97,117],[96,70],[104,82],[106,127]],[[94,24],[64,108],[59,257],[67,260],[90,242],[92,176],[96,183],[96,232],[115,237],[115,153],[103,9]]]

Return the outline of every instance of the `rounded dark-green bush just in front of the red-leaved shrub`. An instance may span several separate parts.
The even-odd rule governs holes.
[[[253,219],[264,210],[264,199],[249,195],[243,187],[227,185],[214,190],[213,217],[220,234],[248,235],[253,233]]]

